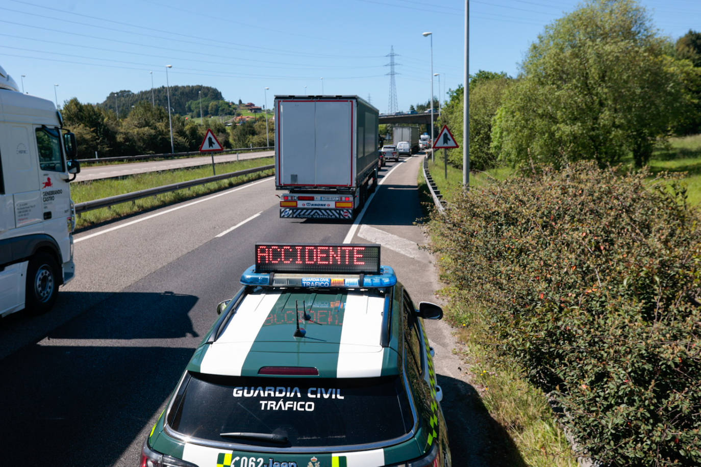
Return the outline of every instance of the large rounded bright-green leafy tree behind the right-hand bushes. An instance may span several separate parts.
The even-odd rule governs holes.
[[[588,0],[545,28],[505,96],[493,148],[515,164],[637,166],[682,111],[683,83],[665,41],[634,0]]]

